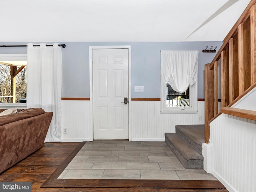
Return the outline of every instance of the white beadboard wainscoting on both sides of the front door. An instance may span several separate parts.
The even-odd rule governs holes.
[[[176,125],[204,124],[204,101],[198,101],[197,114],[160,114],[160,101],[150,100],[131,101],[130,110],[132,141],[165,141],[164,133],[175,132]],[[89,100],[62,100],[62,142],[90,141],[90,121]]]

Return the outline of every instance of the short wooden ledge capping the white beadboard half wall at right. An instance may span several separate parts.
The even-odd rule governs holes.
[[[220,109],[220,112],[228,115],[256,120],[256,111],[252,111],[252,110],[238,109],[238,108],[232,108],[232,107],[222,107]]]

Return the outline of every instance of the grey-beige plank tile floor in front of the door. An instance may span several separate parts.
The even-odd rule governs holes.
[[[58,179],[217,180],[186,169],[165,142],[86,142]]]

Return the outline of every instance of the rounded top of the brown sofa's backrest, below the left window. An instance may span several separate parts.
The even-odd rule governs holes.
[[[18,110],[18,113],[0,116],[0,126],[6,125],[8,123],[12,123],[18,120],[37,116],[40,114],[44,114],[44,110],[41,108],[28,108],[24,110]]]

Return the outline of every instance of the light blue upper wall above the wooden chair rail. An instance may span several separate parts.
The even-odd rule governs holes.
[[[50,43],[50,42],[49,42]],[[198,98],[204,98],[204,64],[215,53],[203,53],[208,46],[222,42],[59,42],[62,48],[62,97],[89,98],[89,46],[130,45],[132,64],[132,98],[160,98],[160,50],[199,50]],[[0,42],[0,45],[27,42]],[[26,53],[26,47],[0,48],[0,54]],[[134,86],[144,86],[144,92],[134,92]]]

